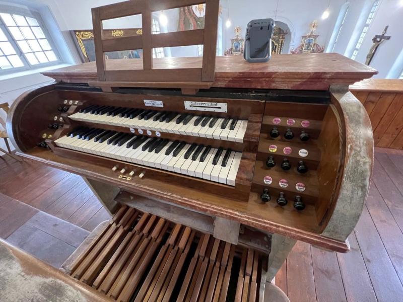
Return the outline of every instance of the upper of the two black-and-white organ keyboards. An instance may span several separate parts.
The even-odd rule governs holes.
[[[77,121],[243,142],[247,120],[149,109],[91,105],[69,116]]]

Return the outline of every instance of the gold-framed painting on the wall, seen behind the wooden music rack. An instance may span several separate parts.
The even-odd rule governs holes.
[[[92,30],[72,30],[73,39],[75,41],[77,50],[80,53],[81,60],[84,62],[95,61],[95,45],[94,34]],[[106,29],[104,35],[106,37],[122,37],[122,36],[139,36],[141,35],[141,28],[129,29]],[[125,58],[142,58],[143,50],[124,50],[106,52],[106,59],[125,59]]]

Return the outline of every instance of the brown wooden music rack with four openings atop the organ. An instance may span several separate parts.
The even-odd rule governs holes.
[[[214,81],[217,44],[219,0],[201,0],[206,4],[204,29],[182,32],[152,33],[153,12],[200,4],[200,0],[129,0],[92,9],[97,82],[91,86],[111,91],[113,87],[181,88],[188,94],[200,88],[210,88]],[[143,34],[105,38],[102,22],[115,18],[141,15]],[[160,68],[153,64],[153,48],[203,44],[201,68]],[[105,52],[143,49],[141,69],[128,69],[131,59],[124,64],[105,59]],[[134,59],[133,59],[134,60]],[[109,68],[108,68],[109,67]],[[169,66],[168,66],[169,67]],[[123,68],[123,69],[122,69]],[[125,69],[124,69],[125,68]],[[168,82],[169,81],[169,82]]]

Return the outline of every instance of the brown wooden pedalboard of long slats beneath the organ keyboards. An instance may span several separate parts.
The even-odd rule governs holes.
[[[116,301],[263,301],[267,255],[122,206],[65,270]]]

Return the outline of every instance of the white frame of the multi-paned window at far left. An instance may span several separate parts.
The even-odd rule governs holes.
[[[3,22],[3,19],[0,17],[0,28],[3,30],[4,34],[9,39],[9,42],[14,47],[14,50],[17,52],[17,55],[20,57],[21,61],[24,63],[24,66],[21,66],[21,67],[0,69],[0,75],[12,74],[12,73],[17,73],[17,72],[27,71],[27,70],[35,70],[35,69],[40,69],[40,68],[46,68],[49,66],[54,66],[54,65],[63,63],[60,52],[59,52],[58,48],[56,47],[56,45],[53,41],[53,38],[50,35],[39,12],[37,12],[35,10],[27,10],[27,9],[23,9],[23,8],[19,8],[19,7],[13,7],[13,6],[6,5],[6,6],[2,6],[0,13],[22,15],[24,17],[34,18],[38,22],[39,27],[43,31],[43,34],[45,35],[46,40],[49,42],[49,45],[52,48],[52,51],[54,52],[54,54],[57,57],[56,61],[52,61],[52,62],[49,61],[46,63],[39,63],[39,64],[31,65],[29,63],[29,61],[27,60],[27,58],[25,57],[24,52],[18,45],[17,40],[14,39],[8,26]]]

